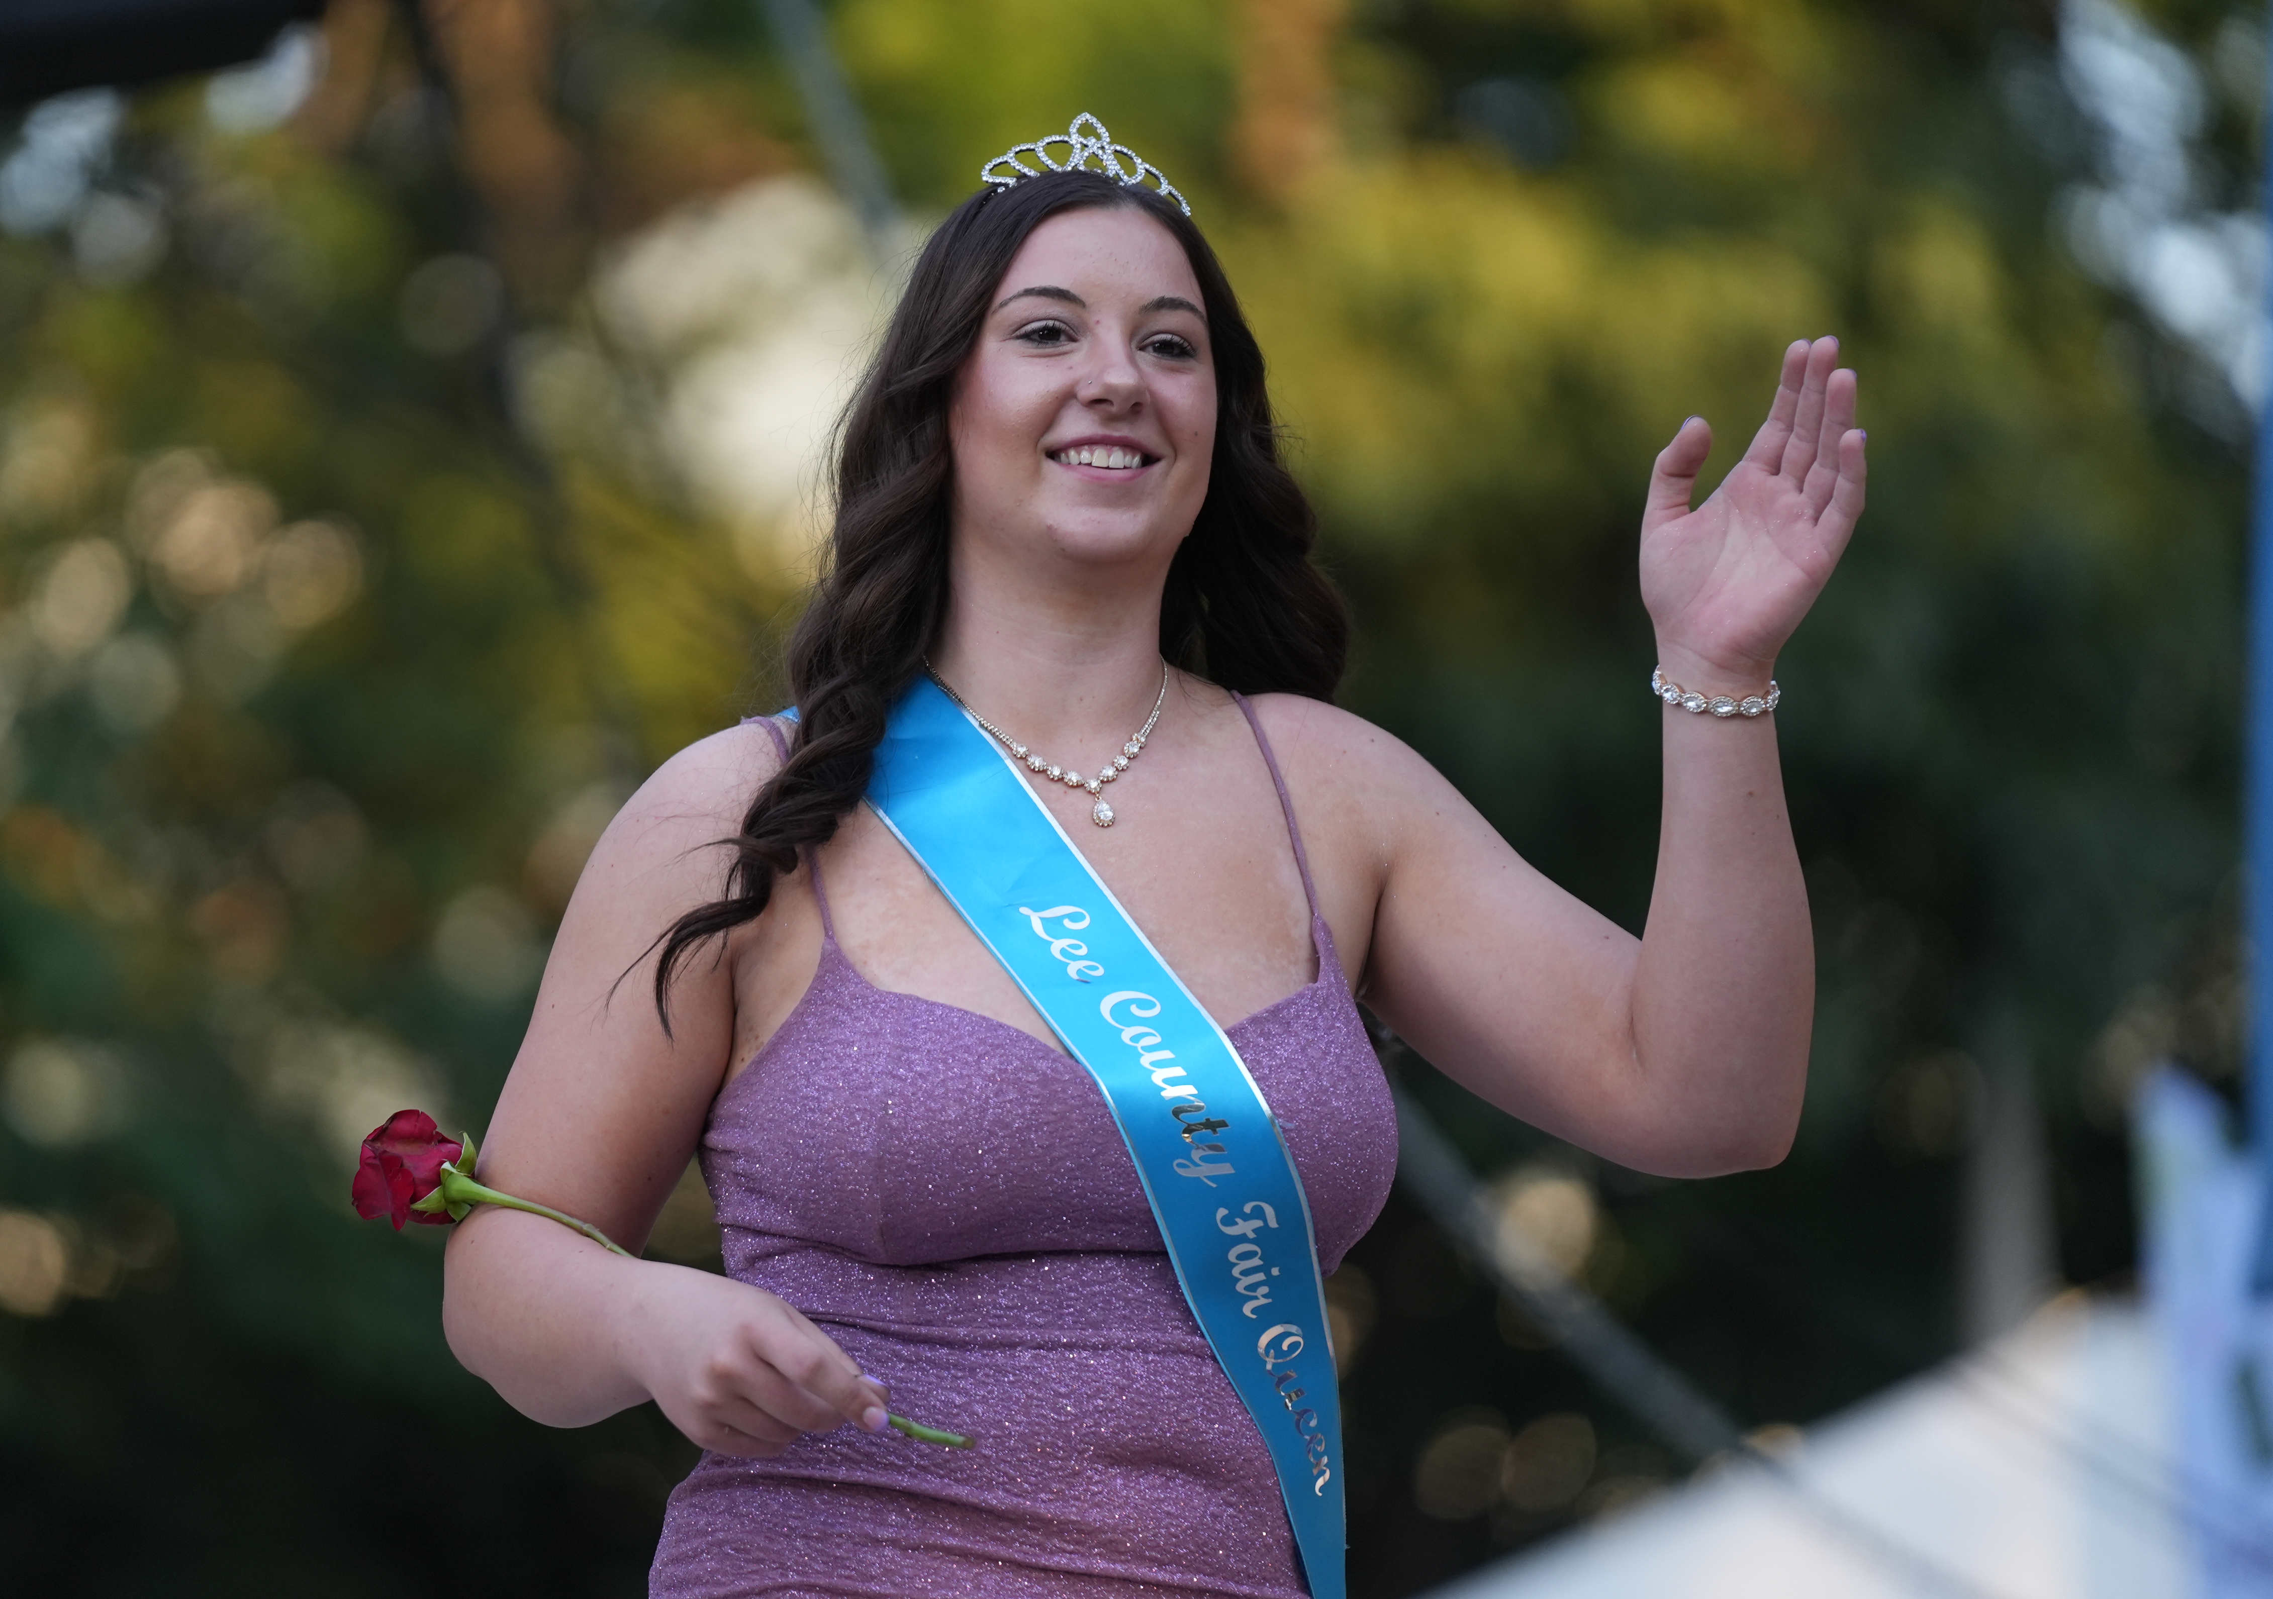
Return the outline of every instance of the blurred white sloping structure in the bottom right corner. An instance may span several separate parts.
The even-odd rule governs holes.
[[[2153,1317],[2078,1292],[1784,1458],[1789,1481],[1705,1472],[1437,1599],[2184,1599],[2182,1517],[2214,1522],[2182,1495]]]

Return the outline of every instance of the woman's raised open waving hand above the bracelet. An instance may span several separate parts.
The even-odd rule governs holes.
[[[1839,341],[1798,341],[1743,461],[1689,509],[1712,427],[1691,416],[1657,454],[1641,513],[1641,604],[1666,675],[1757,693],[1862,516],[1864,434]]]

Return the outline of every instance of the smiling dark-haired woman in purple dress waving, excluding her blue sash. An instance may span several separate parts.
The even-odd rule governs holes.
[[[843,429],[800,718],[673,756],[561,922],[484,1181],[636,1247],[700,1149],[730,1274],[482,1208],[450,1240],[446,1324],[530,1417],[652,1399],[705,1447],[657,1594],[1339,1592],[1305,1583],[1259,1420],[1098,1083],[861,806],[927,670],[1227,1022],[1321,1270],[1396,1167],[1359,999],[1621,1165],[1709,1177],[1791,1142],[1807,902],[1775,720],[1730,711],[1771,697],[1862,511],[1834,341],[1784,352],[1702,507],[1709,427],[1657,457],[1641,593],[1673,690],[1637,940],[1332,706],[1343,611],[1262,354],[1171,200],[1021,175],[939,227]],[[884,1431],[886,1404],[980,1447]]]

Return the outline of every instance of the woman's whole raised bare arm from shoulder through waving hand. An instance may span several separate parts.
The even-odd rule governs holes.
[[[1743,463],[1696,511],[1691,418],[1657,461],[1641,586],[1668,677],[1764,693],[1862,511],[1855,375],[1793,345]],[[1639,684],[1637,684],[1639,700]],[[1773,1165],[1798,1127],[1814,936],[1773,715],[1657,706],[1664,820],[1637,940],[1546,881],[1425,761],[1325,711],[1302,761],[1377,884],[1366,1002],[1493,1104],[1639,1170]],[[1332,777],[1327,777],[1332,775]]]

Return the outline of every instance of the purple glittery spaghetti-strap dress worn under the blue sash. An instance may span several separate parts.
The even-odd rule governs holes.
[[[1332,1272],[1396,1172],[1396,1115],[1287,806],[1318,977],[1225,1029],[1277,1115]],[[775,738],[780,734],[775,731]],[[655,1599],[1300,1599],[1262,1435],[1200,1336],[1089,1074],[1007,1022],[868,983],[821,897],[821,968],[711,1106],[725,1267],[809,1315],[902,1415],[705,1454]]]

